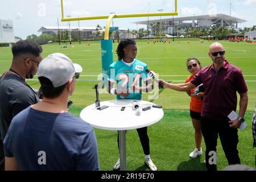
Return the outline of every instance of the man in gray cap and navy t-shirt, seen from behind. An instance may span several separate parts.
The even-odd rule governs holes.
[[[39,64],[43,100],[14,117],[4,140],[6,170],[99,170],[90,125],[67,110],[81,67],[62,53]]]

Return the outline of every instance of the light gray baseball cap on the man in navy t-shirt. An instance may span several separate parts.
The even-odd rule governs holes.
[[[75,73],[81,73],[82,67],[73,64],[63,53],[53,53],[41,61],[38,67],[38,77],[46,77],[54,88],[67,84]]]

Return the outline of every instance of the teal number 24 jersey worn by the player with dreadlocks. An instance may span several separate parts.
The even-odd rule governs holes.
[[[131,88],[142,86],[142,81],[150,79],[146,72],[147,64],[134,60],[132,65],[125,64],[122,60],[118,60],[109,66],[108,80],[111,82],[117,81],[116,89],[129,90],[130,94],[127,97],[117,96],[117,100],[131,99],[141,100],[141,90],[133,91]]]

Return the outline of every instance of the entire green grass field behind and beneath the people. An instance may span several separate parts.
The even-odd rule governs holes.
[[[212,64],[212,60],[207,55],[209,45],[212,42],[200,43],[200,39],[175,40],[166,44],[156,43],[147,44],[147,40],[137,40],[138,55],[137,59],[147,63],[148,68],[159,73],[160,78],[181,83],[189,76],[186,69],[188,57],[197,57],[201,64],[207,66]],[[74,47],[60,48],[59,44],[47,44],[43,46],[43,57],[50,53],[61,52],[69,56],[74,63],[79,63],[84,71],[81,73],[80,80],[76,82],[76,92],[70,98],[74,104],[71,113],[79,116],[83,107],[93,104],[95,101],[95,90],[93,86],[97,81],[97,75],[101,73],[101,48],[100,42],[90,42],[92,46],[86,46],[86,42],[73,43]],[[226,59],[230,63],[241,68],[245,76],[246,84],[249,88],[249,103],[246,112],[247,128],[239,131],[240,143],[238,150],[242,164],[255,167],[255,153],[252,149],[251,119],[253,116],[256,102],[256,44],[221,42],[226,50]],[[117,43],[113,45],[114,50]],[[0,48],[0,73],[7,71],[11,65],[11,49]],[[114,60],[117,56],[114,53]],[[34,88],[39,88],[39,82],[35,77],[33,81],[28,81]],[[93,81],[82,81],[93,80]],[[143,100],[148,100],[152,93],[144,94]],[[239,96],[238,96],[239,98]],[[110,94],[100,94],[100,100],[114,100]],[[151,158],[159,170],[205,170],[203,164],[204,155],[198,159],[189,159],[188,154],[195,148],[193,137],[193,127],[189,117],[190,98],[185,92],[176,92],[164,89],[156,99],[155,104],[163,106],[164,118],[148,127],[150,137]],[[239,107],[238,107],[239,108]],[[118,159],[117,131],[106,131],[95,129],[100,166],[102,170],[112,170]],[[218,169],[228,165],[220,141],[218,142]],[[204,141],[202,148],[205,151]],[[127,169],[146,170],[143,165],[143,151],[136,130],[127,132]]]

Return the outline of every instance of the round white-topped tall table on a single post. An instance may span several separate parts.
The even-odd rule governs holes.
[[[133,101],[139,102],[140,108],[151,106],[150,110],[142,111],[136,115],[132,109]],[[118,130],[120,169],[126,170],[126,137],[125,130],[139,129],[152,125],[163,118],[163,109],[152,107],[152,102],[138,100],[112,100],[103,101],[101,106],[109,106],[104,110],[97,110],[95,104],[85,107],[80,117],[92,127],[103,130]],[[121,108],[125,107],[124,111]]]

